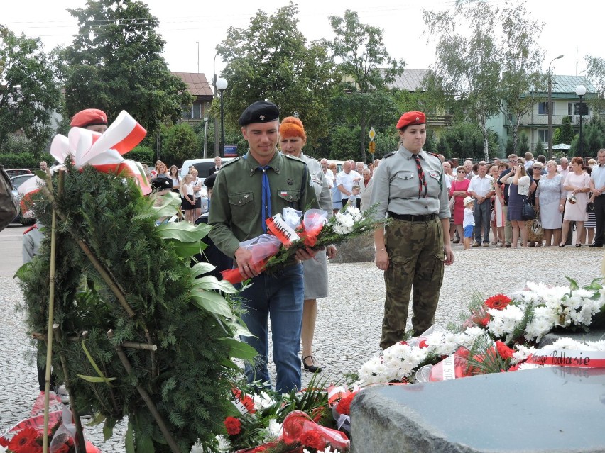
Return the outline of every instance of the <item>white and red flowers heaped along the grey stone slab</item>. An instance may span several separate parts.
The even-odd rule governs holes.
[[[588,330],[605,315],[605,289],[598,279],[584,288],[568,280],[569,287],[528,283],[512,297],[472,301],[459,328],[434,325],[371,358],[359,369],[360,385],[442,381],[549,365],[605,367],[605,341],[564,338],[535,347],[555,328]]]

